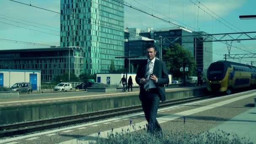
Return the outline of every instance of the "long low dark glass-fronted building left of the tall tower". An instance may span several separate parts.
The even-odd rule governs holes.
[[[40,70],[41,81],[55,80],[69,71],[78,77],[83,72],[83,60],[81,47],[0,51],[0,69]]]

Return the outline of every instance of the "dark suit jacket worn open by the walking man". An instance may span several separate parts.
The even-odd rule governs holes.
[[[145,78],[145,73],[147,69],[147,59],[144,60],[141,65],[139,65],[136,83],[140,85],[139,99],[141,100],[145,94],[144,84],[140,84],[141,78]],[[159,92],[159,97],[161,101],[165,101],[165,87],[169,83],[168,71],[165,62],[155,59],[153,74],[157,77],[157,83],[155,83],[157,90]]]

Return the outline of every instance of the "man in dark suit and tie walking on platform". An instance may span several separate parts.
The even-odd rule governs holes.
[[[138,68],[136,83],[140,85],[139,99],[148,122],[147,131],[162,131],[157,122],[159,101],[165,101],[165,84],[169,83],[168,71],[163,61],[155,58],[157,51],[154,45],[147,46],[147,60]]]

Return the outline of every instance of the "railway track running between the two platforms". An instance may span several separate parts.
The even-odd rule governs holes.
[[[197,97],[188,97],[184,99],[174,99],[169,101],[161,102],[159,107],[169,107],[176,104],[184,104],[191,101],[198,101],[202,99],[208,99],[213,96],[197,96]],[[20,135],[24,133],[30,133],[34,131],[42,131],[45,129],[58,128],[61,126],[72,125],[77,123],[90,122],[95,120],[101,120],[110,117],[116,117],[120,115],[127,115],[135,112],[142,112],[141,105],[109,109],[105,111],[92,112],[81,115],[73,115],[67,117],[58,117],[48,120],[39,120],[27,123],[18,123],[12,125],[3,125],[0,126],[0,138],[6,136]]]

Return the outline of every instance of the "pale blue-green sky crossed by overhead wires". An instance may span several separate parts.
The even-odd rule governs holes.
[[[60,0],[16,1],[60,12]],[[209,34],[218,34],[256,31],[256,19],[239,19],[240,15],[256,15],[256,11],[253,11],[253,6],[256,5],[255,0],[125,0],[125,4],[195,32],[199,30]],[[0,9],[1,50],[60,45],[59,13],[22,5],[10,0],[1,0]],[[174,26],[125,6],[125,27],[137,27],[144,30],[147,27],[158,29]],[[8,40],[43,45],[21,44]],[[232,47],[230,54],[256,53],[254,48],[256,40],[244,40],[240,43],[233,41],[232,45],[237,48]],[[223,55],[226,53],[228,53],[227,44],[213,42],[213,61],[223,60]],[[250,64],[250,61],[256,61],[256,58],[228,60]]]

